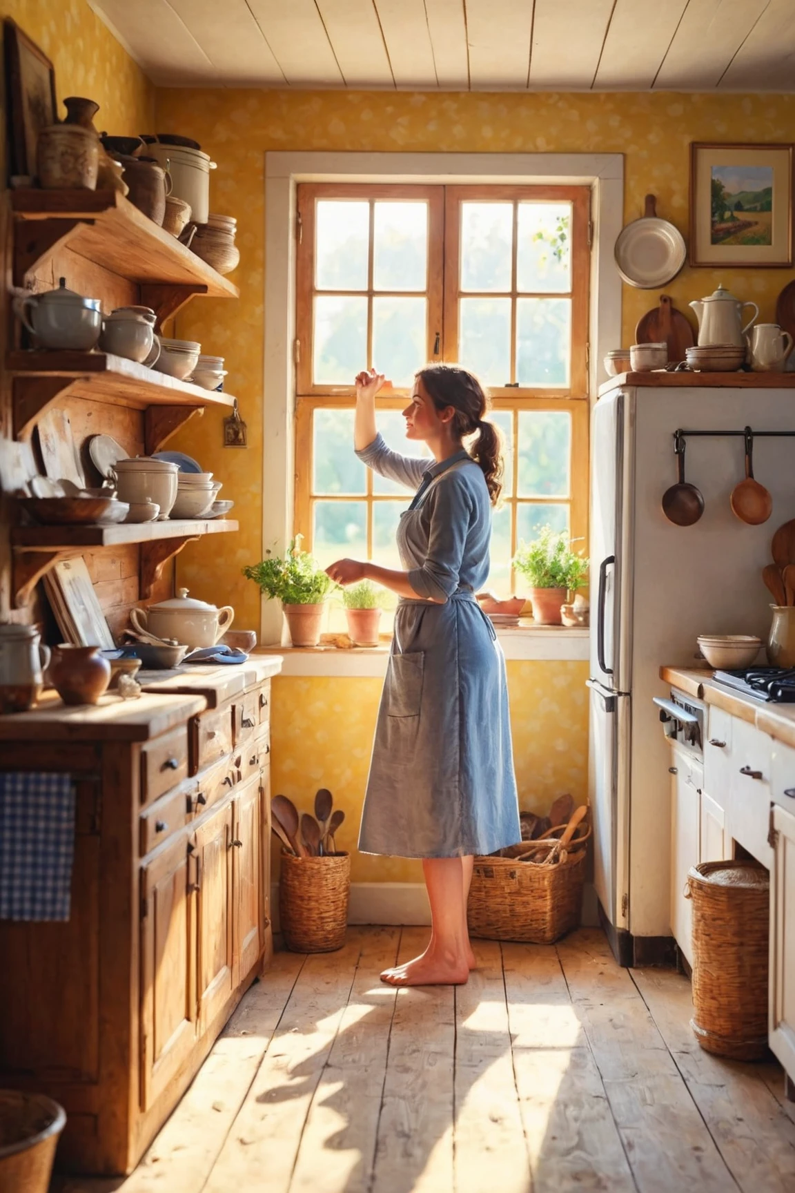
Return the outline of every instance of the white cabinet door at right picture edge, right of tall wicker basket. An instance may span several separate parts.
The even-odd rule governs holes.
[[[774,804],[771,824],[770,1047],[795,1081],[795,816]]]

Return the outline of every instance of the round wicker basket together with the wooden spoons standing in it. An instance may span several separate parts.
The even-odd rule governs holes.
[[[285,944],[296,953],[333,952],[346,939],[350,854],[337,849],[344,812],[333,804],[327,787],[315,796],[313,816],[299,816],[286,796],[271,801],[271,827],[282,845],[279,916]]]

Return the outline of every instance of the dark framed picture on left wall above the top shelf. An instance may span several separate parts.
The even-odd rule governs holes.
[[[36,144],[57,120],[55,68],[36,42],[7,17],[2,23],[6,61],[8,147],[13,175],[36,174]]]

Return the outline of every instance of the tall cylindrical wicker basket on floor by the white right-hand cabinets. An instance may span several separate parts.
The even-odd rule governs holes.
[[[757,861],[706,861],[692,900],[690,1026],[706,1052],[756,1061],[768,1050],[770,878]]]

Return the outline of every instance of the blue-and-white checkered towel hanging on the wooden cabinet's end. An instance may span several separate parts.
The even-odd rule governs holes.
[[[70,774],[0,774],[0,920],[68,920],[75,845]]]

